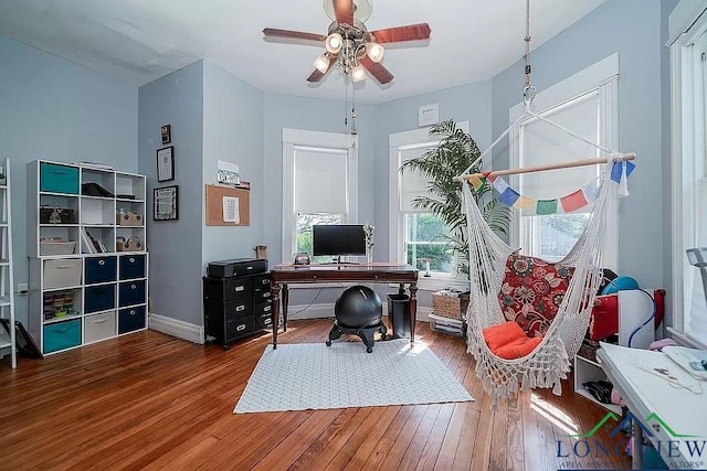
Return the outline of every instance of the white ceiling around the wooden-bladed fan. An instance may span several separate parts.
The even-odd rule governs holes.
[[[323,46],[265,41],[262,33],[277,28],[326,34],[330,20],[324,1],[0,0],[0,34],[135,85],[203,57],[264,92],[342,100],[346,82],[338,71],[318,84],[306,82]],[[604,1],[531,0],[531,46]],[[357,101],[377,104],[484,81],[525,52],[525,0],[372,3],[369,31],[426,22],[432,34],[388,44],[382,64],[395,78],[382,86],[368,75],[356,84]]]

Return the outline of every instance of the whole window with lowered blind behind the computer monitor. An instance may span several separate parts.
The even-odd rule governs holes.
[[[283,129],[284,260],[312,254],[313,225],[357,221],[357,172],[356,136]]]

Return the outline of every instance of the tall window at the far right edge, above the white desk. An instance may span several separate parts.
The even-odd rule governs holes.
[[[698,7],[698,8],[697,8]],[[680,2],[671,13],[673,121],[673,325],[686,343],[707,347],[699,271],[685,250],[707,247],[707,9]]]

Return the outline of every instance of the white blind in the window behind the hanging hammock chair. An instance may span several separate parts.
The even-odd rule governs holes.
[[[573,132],[599,140],[599,94],[594,90],[551,108],[542,116]],[[545,165],[573,159],[599,157],[597,148],[539,119],[521,124],[521,167]],[[566,196],[598,175],[599,167],[578,167],[519,176],[520,192],[531,199]],[[577,212],[589,212],[585,206]]]

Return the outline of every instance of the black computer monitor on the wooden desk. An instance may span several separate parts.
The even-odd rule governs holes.
[[[317,256],[365,256],[366,235],[361,224],[312,226],[312,251]]]

